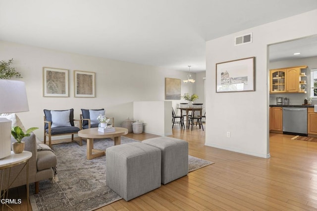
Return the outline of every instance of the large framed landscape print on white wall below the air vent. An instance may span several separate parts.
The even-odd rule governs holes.
[[[216,63],[216,92],[255,91],[255,57]]]

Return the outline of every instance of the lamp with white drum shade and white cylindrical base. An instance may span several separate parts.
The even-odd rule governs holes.
[[[0,99],[0,113],[29,110],[25,83],[23,81],[0,79]],[[0,118],[0,159],[11,155],[12,121],[2,117]]]

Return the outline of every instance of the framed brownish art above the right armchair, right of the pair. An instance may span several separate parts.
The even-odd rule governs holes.
[[[95,73],[74,70],[74,97],[95,97]]]

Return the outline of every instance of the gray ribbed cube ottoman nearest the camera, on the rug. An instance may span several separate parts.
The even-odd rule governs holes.
[[[139,142],[106,149],[106,184],[125,201],[160,187],[160,150]]]

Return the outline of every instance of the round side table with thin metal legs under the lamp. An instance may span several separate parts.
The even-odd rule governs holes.
[[[1,202],[4,199],[8,199],[8,192],[9,192],[9,188],[10,186],[13,184],[13,182],[15,181],[15,179],[20,175],[20,173],[22,172],[22,170],[26,167],[26,200],[27,200],[27,209],[29,210],[29,159],[32,157],[32,153],[28,152],[28,151],[23,151],[20,154],[14,154],[11,151],[11,155],[5,158],[0,159],[0,170],[2,171],[2,177],[1,177],[1,183],[0,183],[0,190],[3,189],[3,193],[0,196],[0,200]],[[18,175],[13,179],[13,181],[11,182],[11,184],[9,184],[9,179],[10,179],[10,173],[11,173],[11,167],[19,165],[24,163],[21,171],[18,173]],[[4,183],[5,181],[5,175],[4,173],[8,173],[8,180],[6,182],[7,186],[5,188]],[[2,203],[1,203],[2,204]],[[9,209],[10,206],[8,206],[6,203],[3,203],[1,205],[1,211],[4,210],[4,206],[7,206]],[[12,209],[11,209],[12,210]]]

